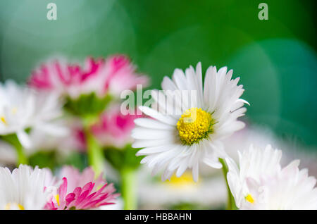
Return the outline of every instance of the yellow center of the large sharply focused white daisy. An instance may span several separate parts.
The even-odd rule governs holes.
[[[183,144],[194,144],[208,137],[213,131],[213,118],[211,113],[201,108],[190,108],[178,120],[177,128]]]

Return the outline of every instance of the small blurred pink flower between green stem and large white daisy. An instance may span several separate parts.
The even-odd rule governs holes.
[[[104,146],[123,148],[132,143],[131,131],[135,127],[134,120],[142,115],[123,115],[119,106],[113,106],[104,112],[99,123],[92,126],[92,132]]]

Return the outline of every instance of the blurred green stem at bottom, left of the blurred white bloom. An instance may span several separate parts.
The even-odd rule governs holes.
[[[137,192],[135,182],[135,169],[123,168],[121,174],[121,192],[125,210],[137,209]]]

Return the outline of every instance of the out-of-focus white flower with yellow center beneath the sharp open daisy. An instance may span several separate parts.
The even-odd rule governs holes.
[[[208,208],[225,205],[227,190],[221,175],[199,177],[194,182],[190,172],[180,178],[173,175],[170,180],[159,182],[149,177],[149,170],[139,171],[139,204],[144,209],[166,209],[177,204],[198,204]]]

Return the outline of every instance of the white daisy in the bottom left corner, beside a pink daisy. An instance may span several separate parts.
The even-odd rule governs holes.
[[[8,168],[0,168],[0,209],[39,210],[48,199],[44,186],[51,181],[51,173],[46,169],[20,165],[12,173]]]

